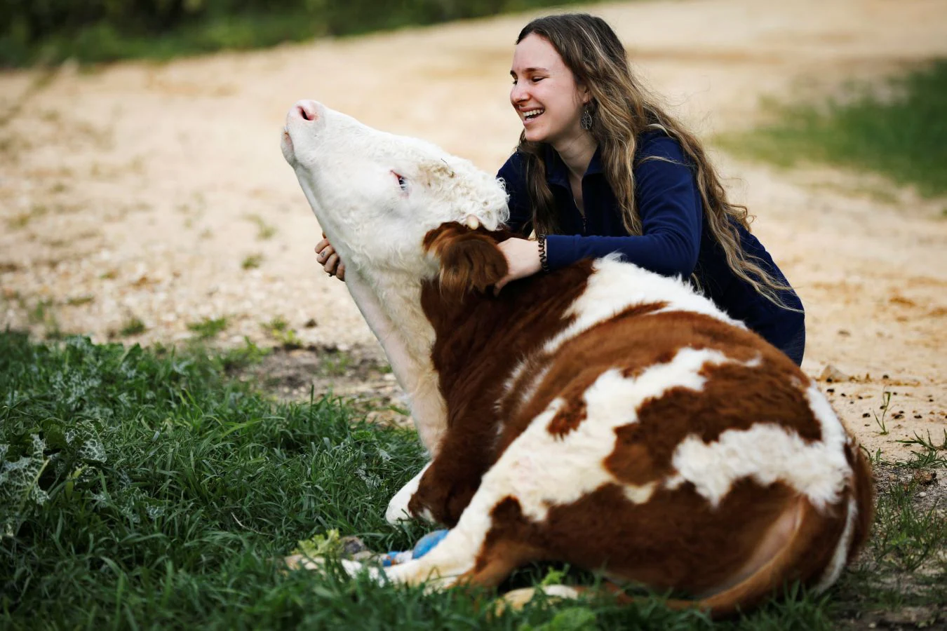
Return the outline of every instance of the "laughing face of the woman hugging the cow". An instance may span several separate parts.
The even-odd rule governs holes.
[[[544,37],[531,33],[513,52],[509,102],[519,114],[529,141],[562,146],[583,133],[582,105],[590,96],[576,83],[563,58]]]

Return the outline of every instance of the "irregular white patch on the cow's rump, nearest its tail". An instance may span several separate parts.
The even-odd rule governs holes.
[[[814,384],[806,395],[822,440],[806,442],[795,430],[766,423],[764,418],[749,429],[727,429],[712,443],[691,434],[674,450],[671,463],[677,475],[666,485],[691,482],[714,506],[742,478],[763,486],[784,482],[819,510],[837,502],[851,477],[845,429]]]

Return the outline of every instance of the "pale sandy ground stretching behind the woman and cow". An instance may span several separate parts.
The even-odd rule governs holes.
[[[758,121],[761,97],[829,93],[947,55],[942,0],[590,9],[704,137]],[[267,341],[265,324],[281,317],[304,344],[377,351],[346,289],[316,269],[319,229],[279,152],[283,116],[317,98],[493,171],[519,132],[509,60],[534,14],[0,74],[0,326],[105,341],[139,318],[147,330],[118,339],[179,342],[194,335],[188,324],[226,316],[219,342],[241,344]],[[717,159],[807,307],[803,368],[853,377],[824,384],[849,427],[888,458],[908,455],[896,441],[915,431],[942,440],[947,202],[833,169]]]

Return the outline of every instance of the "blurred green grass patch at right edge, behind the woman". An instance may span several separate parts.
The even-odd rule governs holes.
[[[825,162],[947,194],[947,60],[849,88],[843,100],[773,106],[777,122],[716,139],[724,149],[791,167]]]

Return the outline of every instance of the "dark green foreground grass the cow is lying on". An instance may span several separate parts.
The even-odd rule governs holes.
[[[344,400],[280,404],[227,377],[264,353],[0,334],[0,628],[808,631],[835,628],[834,595],[861,593],[853,573],[835,594],[789,587],[748,617],[711,624],[653,597],[496,616],[483,594],[376,586],[334,564],[283,572],[298,541],[331,530],[372,550],[409,548],[422,527],[388,525],[384,507],[423,451],[415,432],[366,424]],[[901,496],[888,506],[883,569],[916,545],[899,533],[931,530]],[[929,549],[943,542],[925,536]],[[546,573],[520,570],[510,584]]]

